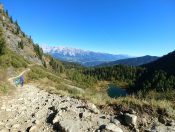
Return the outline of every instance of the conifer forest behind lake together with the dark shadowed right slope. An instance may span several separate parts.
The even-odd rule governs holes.
[[[129,84],[129,90],[137,93],[148,93],[155,90],[165,92],[175,90],[175,52],[171,52],[157,61],[134,67],[134,66],[107,66],[89,68],[83,74],[95,77],[98,80],[121,82]],[[119,83],[120,82],[120,83]]]

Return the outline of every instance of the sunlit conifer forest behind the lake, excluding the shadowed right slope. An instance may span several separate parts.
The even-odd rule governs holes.
[[[139,78],[144,71],[144,68],[133,67],[133,66],[108,66],[108,67],[97,67],[89,68],[84,70],[85,75],[93,76],[98,80],[103,81],[118,81],[128,84],[133,84],[133,82]]]

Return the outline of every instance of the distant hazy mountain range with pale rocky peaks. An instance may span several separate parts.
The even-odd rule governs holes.
[[[61,46],[43,46],[42,48],[45,53],[52,55],[54,58],[60,59],[62,61],[80,63],[84,66],[96,66],[105,62],[130,58],[128,55],[123,54],[113,55]]]

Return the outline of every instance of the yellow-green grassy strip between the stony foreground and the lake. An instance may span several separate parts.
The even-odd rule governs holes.
[[[173,100],[175,100],[174,93],[167,92],[160,94],[150,91],[145,97],[140,94],[112,99],[106,93],[107,83],[105,84],[104,82],[98,82],[92,88],[82,88],[85,92],[81,93],[76,89],[71,89],[64,85],[77,85],[70,80],[66,80],[64,74],[58,75],[40,66],[33,66],[31,72],[27,75],[27,78],[28,82],[38,84],[40,88],[52,93],[89,100],[97,105],[110,104],[122,106],[124,109],[133,108],[138,112],[151,111],[151,115],[156,115],[157,110],[161,109],[165,110],[170,117],[175,118],[175,103],[173,102]],[[169,98],[167,98],[167,95]]]

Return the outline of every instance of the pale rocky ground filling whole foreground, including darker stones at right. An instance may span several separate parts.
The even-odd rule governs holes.
[[[29,69],[21,74],[25,72]],[[33,84],[17,87],[14,94],[0,100],[0,132],[175,131],[173,120],[138,116],[134,110],[119,115],[101,112],[92,103],[50,94]]]

